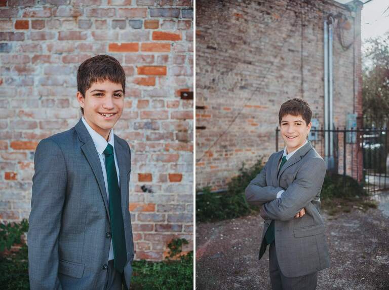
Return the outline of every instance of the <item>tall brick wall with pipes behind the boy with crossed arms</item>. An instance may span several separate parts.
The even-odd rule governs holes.
[[[345,126],[347,113],[361,116],[360,9],[354,21],[332,0],[196,2],[196,126],[203,127],[196,130],[197,188],[225,188],[243,162],[266,161],[276,151],[280,105],[289,98],[306,100],[323,126],[323,21],[330,13],[348,19],[340,31],[345,46],[356,35],[354,52],[334,33],[335,126]]]

